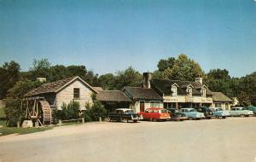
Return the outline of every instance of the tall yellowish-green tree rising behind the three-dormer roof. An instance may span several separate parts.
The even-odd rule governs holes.
[[[197,77],[205,77],[200,65],[189,59],[187,55],[178,55],[173,67],[164,71],[164,77],[174,80],[194,81]]]

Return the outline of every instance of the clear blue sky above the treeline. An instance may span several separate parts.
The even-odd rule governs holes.
[[[253,0],[0,0],[0,65],[33,59],[85,65],[96,73],[189,55],[205,72],[256,71]]]

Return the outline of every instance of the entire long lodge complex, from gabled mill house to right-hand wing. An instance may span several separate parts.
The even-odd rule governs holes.
[[[149,107],[222,107],[229,110],[232,100],[221,92],[212,92],[203,84],[202,78],[195,82],[151,79],[149,72],[143,73],[142,87],[124,87],[123,90],[102,90],[92,87],[82,78],[73,77],[42,84],[31,90],[26,97],[43,97],[52,109],[61,110],[63,103],[79,101],[80,110],[92,103],[91,95],[113,112],[116,108],[131,108],[136,113]]]

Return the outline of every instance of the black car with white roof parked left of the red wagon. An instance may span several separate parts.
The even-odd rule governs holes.
[[[108,121],[133,121],[136,123],[138,120],[143,119],[143,116],[134,113],[133,110],[129,108],[118,108],[115,113],[108,113]]]

